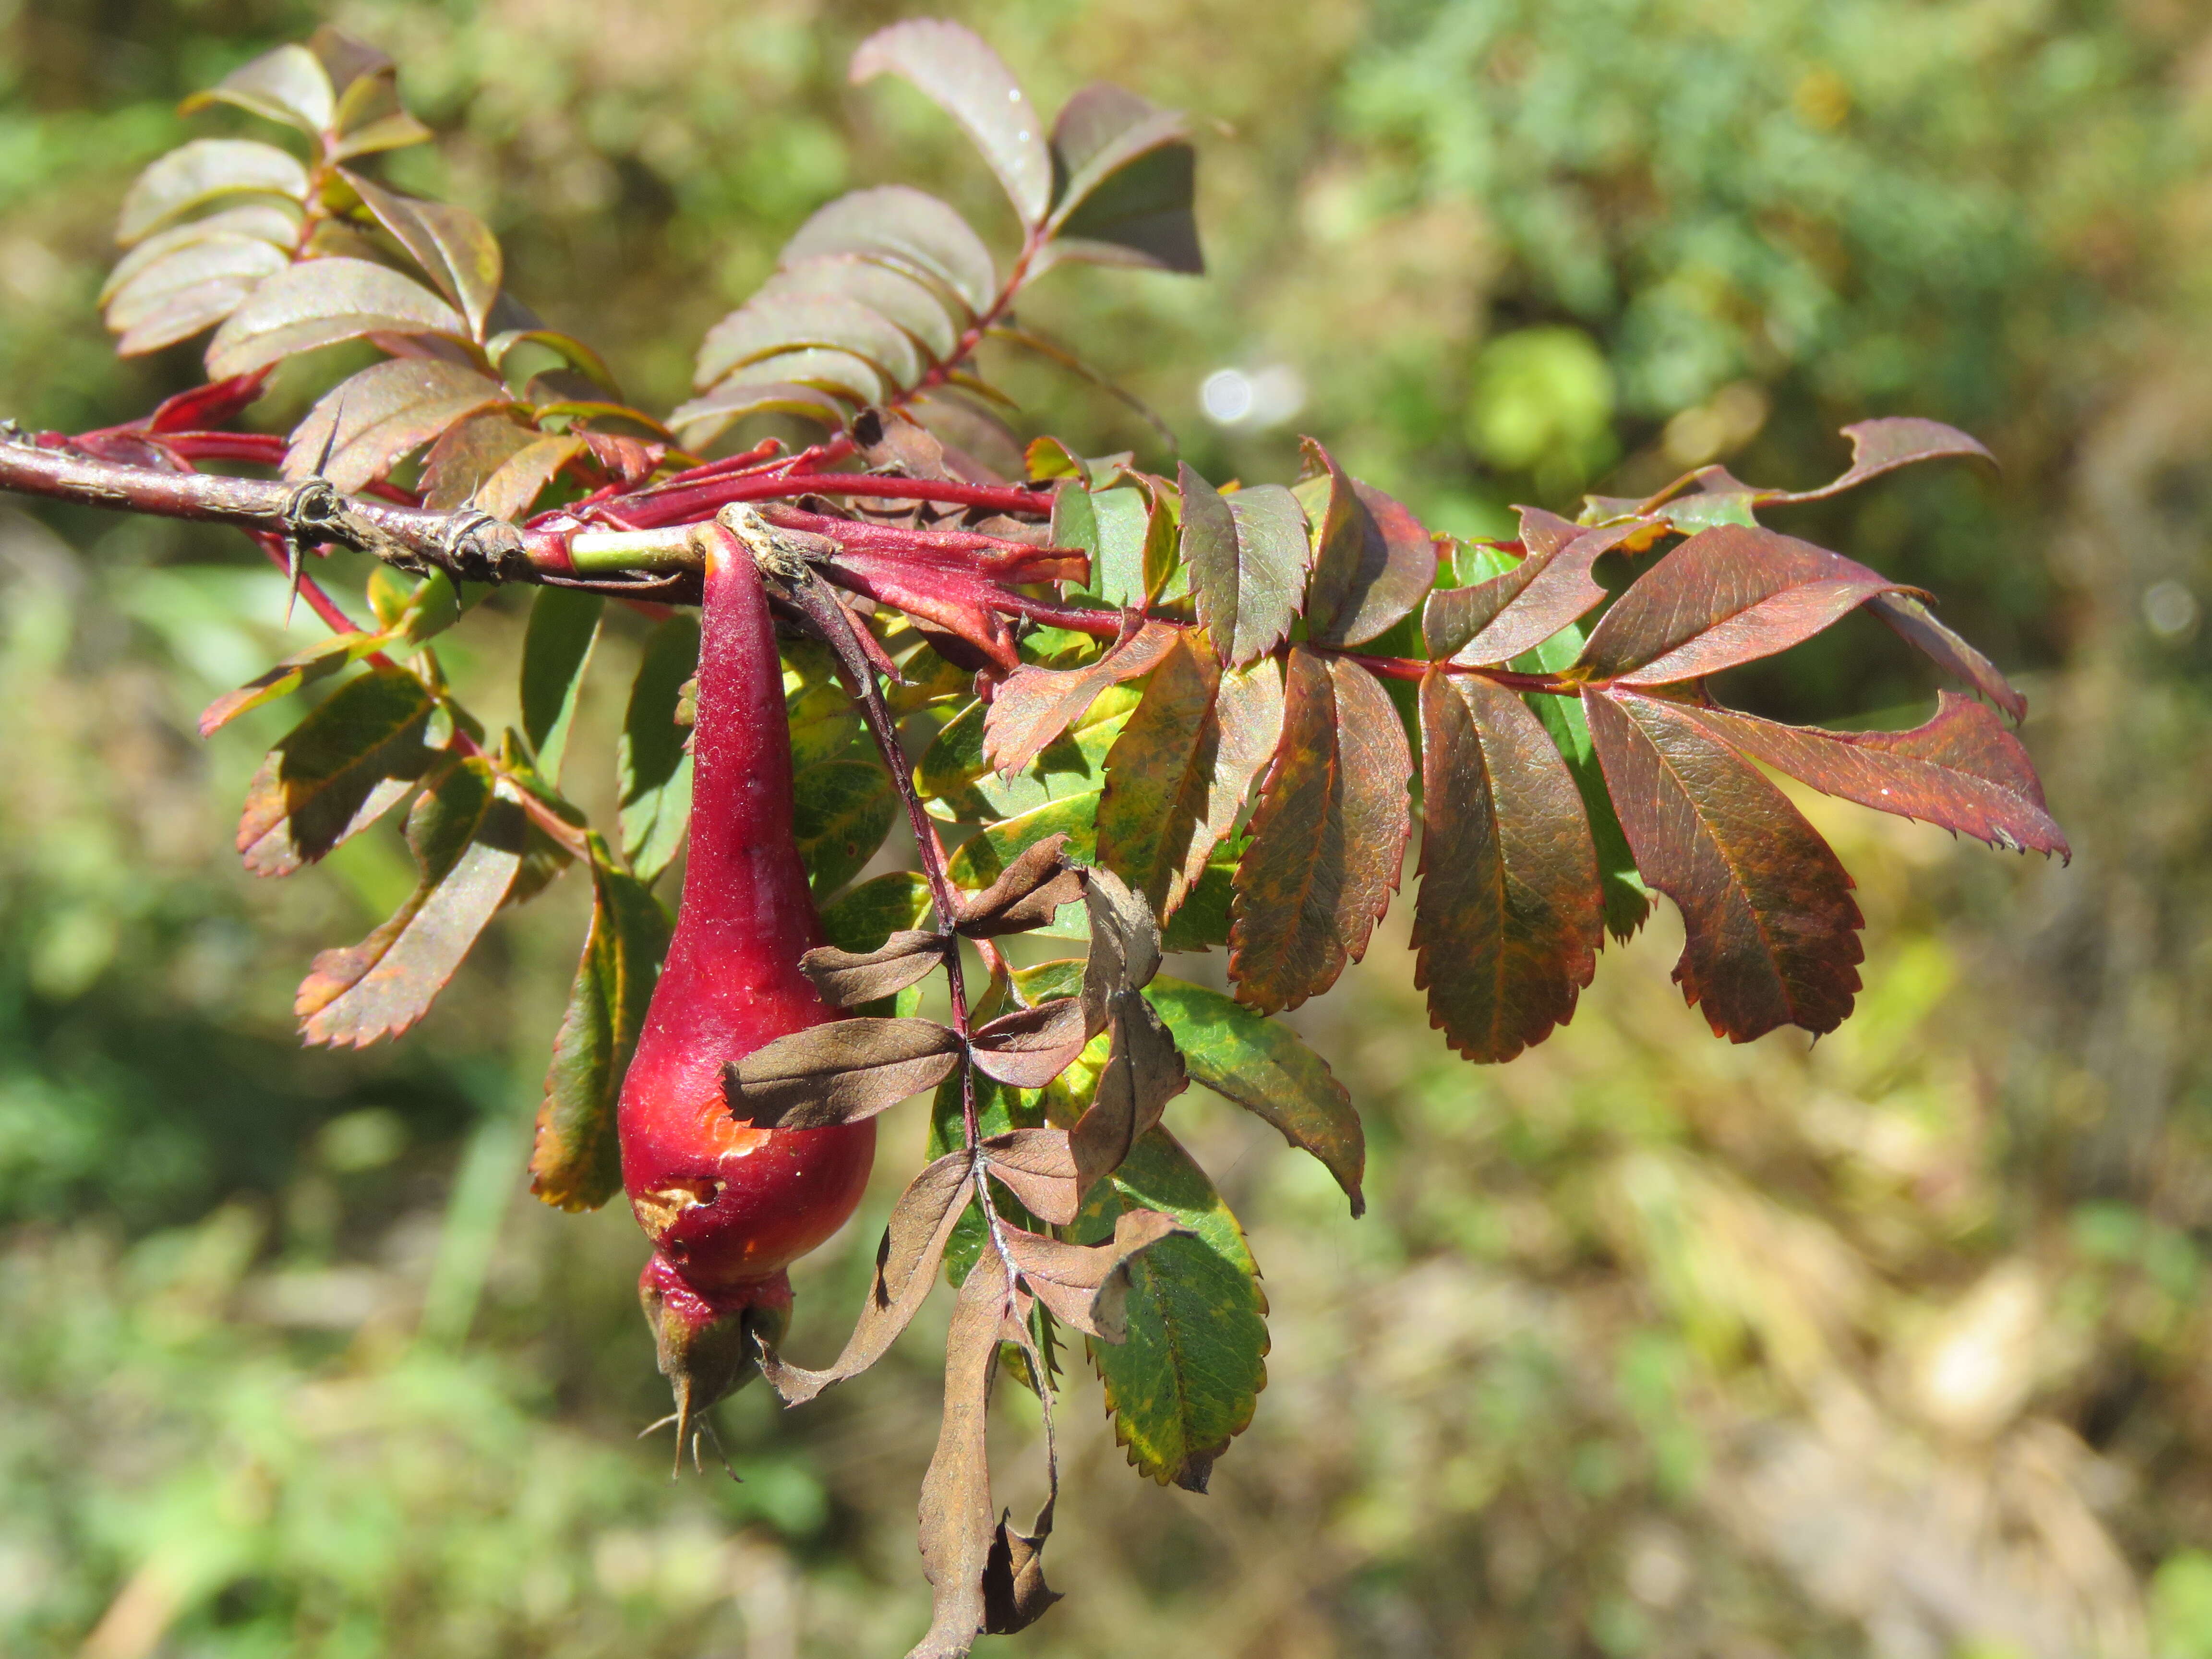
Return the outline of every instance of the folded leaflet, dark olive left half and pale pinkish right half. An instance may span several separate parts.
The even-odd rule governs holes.
[[[1221,672],[1203,637],[1179,633],[1144,701],[1106,752],[1097,856],[1152,914],[1172,916],[1237,823],[1283,730],[1272,661]]]

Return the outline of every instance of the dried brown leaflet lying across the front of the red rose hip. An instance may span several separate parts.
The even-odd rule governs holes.
[[[723,1095],[739,1124],[830,1128],[936,1088],[958,1060],[936,1020],[832,1020],[723,1066]]]

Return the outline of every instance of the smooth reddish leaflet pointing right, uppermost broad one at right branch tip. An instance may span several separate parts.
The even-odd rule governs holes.
[[[1714,524],[1668,553],[1597,619],[1582,666],[1621,686],[1672,686],[1812,639],[1898,584],[1794,535]]]

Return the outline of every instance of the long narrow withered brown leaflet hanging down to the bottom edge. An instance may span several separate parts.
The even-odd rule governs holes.
[[[922,1573],[936,1588],[929,1635],[907,1659],[964,1659],[989,1608],[982,1579],[991,1562],[991,1464],[984,1438],[1000,1327],[1013,1312],[1013,1285],[987,1250],[960,1285],[945,1338],[945,1418],[922,1475]]]

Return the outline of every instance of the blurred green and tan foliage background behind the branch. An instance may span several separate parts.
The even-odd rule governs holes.
[[[1809,484],[1869,414],[1980,434],[2002,480],[1924,469],[1778,522],[1933,588],[2020,672],[2077,847],[2024,865],[1812,805],[1871,958],[1812,1048],[1714,1044],[1661,916],[1568,1031],[1467,1068],[1400,905],[1296,1018],[1367,1110],[1369,1217],[1177,1104],[1267,1274],[1270,1387],[1194,1498],[1137,1482],[1077,1385],[1071,1597],[1022,1650],[2212,1657],[2203,7],[951,11],[1044,102],[1110,77],[1199,117],[1210,276],[1062,272],[1029,321],[1212,476],[1287,476],[1312,431],[1482,533],[1717,458]],[[0,411],[80,429],[192,376],[190,349],[108,354],[115,204],[188,131],[177,97],[325,18],[440,131],[394,177],[491,219],[511,285],[666,407],[830,195],[911,179],[1011,228],[936,111],[843,84],[896,15],[0,0]],[[1006,374],[1040,429],[1150,442]],[[633,1223],[522,1190],[582,894],[502,922],[403,1044],[294,1046],[307,956],[407,869],[385,836],[290,883],[228,852],[285,721],[204,745],[192,714],[279,619],[221,538],[0,507],[0,1650],[900,1652],[927,1329],[805,1411],[754,1389],[726,1409],[743,1484],[668,1486],[666,1442],[630,1438],[664,1398]],[[498,717],[515,613],[462,641]],[[608,752],[626,650],[580,757]],[[1902,721],[1933,686],[1854,622],[1732,695]],[[834,1345],[918,1148],[896,1121],[872,1208],[801,1270],[801,1354]],[[1002,1433],[1020,1506],[1033,1422]]]

